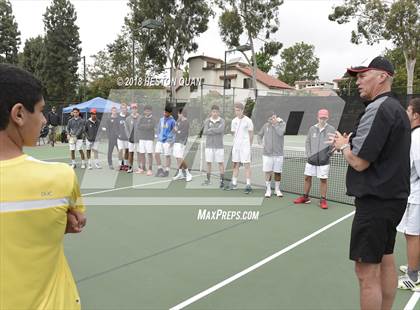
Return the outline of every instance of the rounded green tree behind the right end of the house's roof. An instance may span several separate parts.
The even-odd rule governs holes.
[[[304,42],[286,48],[281,53],[282,62],[277,66],[278,78],[294,85],[299,80],[317,80],[319,58],[315,56],[315,46]]]

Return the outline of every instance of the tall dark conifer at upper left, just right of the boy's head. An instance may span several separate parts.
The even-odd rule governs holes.
[[[53,0],[44,14],[42,80],[48,98],[59,102],[76,99],[81,52],[76,19],[77,14],[69,0]]]

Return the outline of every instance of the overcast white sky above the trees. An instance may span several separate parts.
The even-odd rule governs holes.
[[[77,12],[82,41],[82,56],[91,64],[90,56],[104,49],[118,35],[129,8],[126,0],[70,0]],[[385,48],[392,48],[390,42],[373,46],[350,43],[355,23],[338,25],[328,20],[334,5],[339,0],[284,0],[279,8],[279,31],[274,38],[283,43],[283,49],[297,42],[315,46],[315,55],[320,59],[318,76],[321,81],[332,81],[345,72],[345,68],[367,65],[374,57],[383,54]],[[43,14],[51,0],[11,0],[13,14],[21,32],[21,49],[26,39],[44,34]],[[223,59],[227,49],[222,42],[217,25],[218,16],[211,20],[208,30],[197,38],[198,50],[188,56],[206,55]],[[263,35],[261,35],[263,37]],[[246,41],[241,42],[245,44]],[[256,42],[257,49],[263,43]],[[274,63],[281,62],[281,50]],[[185,58],[187,59],[188,56]],[[230,54],[231,58],[240,54]],[[273,70],[272,70],[273,71]],[[270,72],[274,73],[274,72]]]

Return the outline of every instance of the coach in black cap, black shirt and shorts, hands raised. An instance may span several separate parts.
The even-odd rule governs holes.
[[[347,194],[355,197],[350,259],[356,263],[361,308],[391,309],[397,288],[396,227],[410,191],[410,123],[390,93],[394,67],[388,60],[376,57],[368,67],[347,72],[357,76],[366,101],[354,132],[337,132],[334,139],[349,164]]]

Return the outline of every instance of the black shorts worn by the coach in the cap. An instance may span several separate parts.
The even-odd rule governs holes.
[[[382,256],[394,252],[396,227],[407,199],[356,198],[356,214],[351,227],[350,259],[379,264]]]

